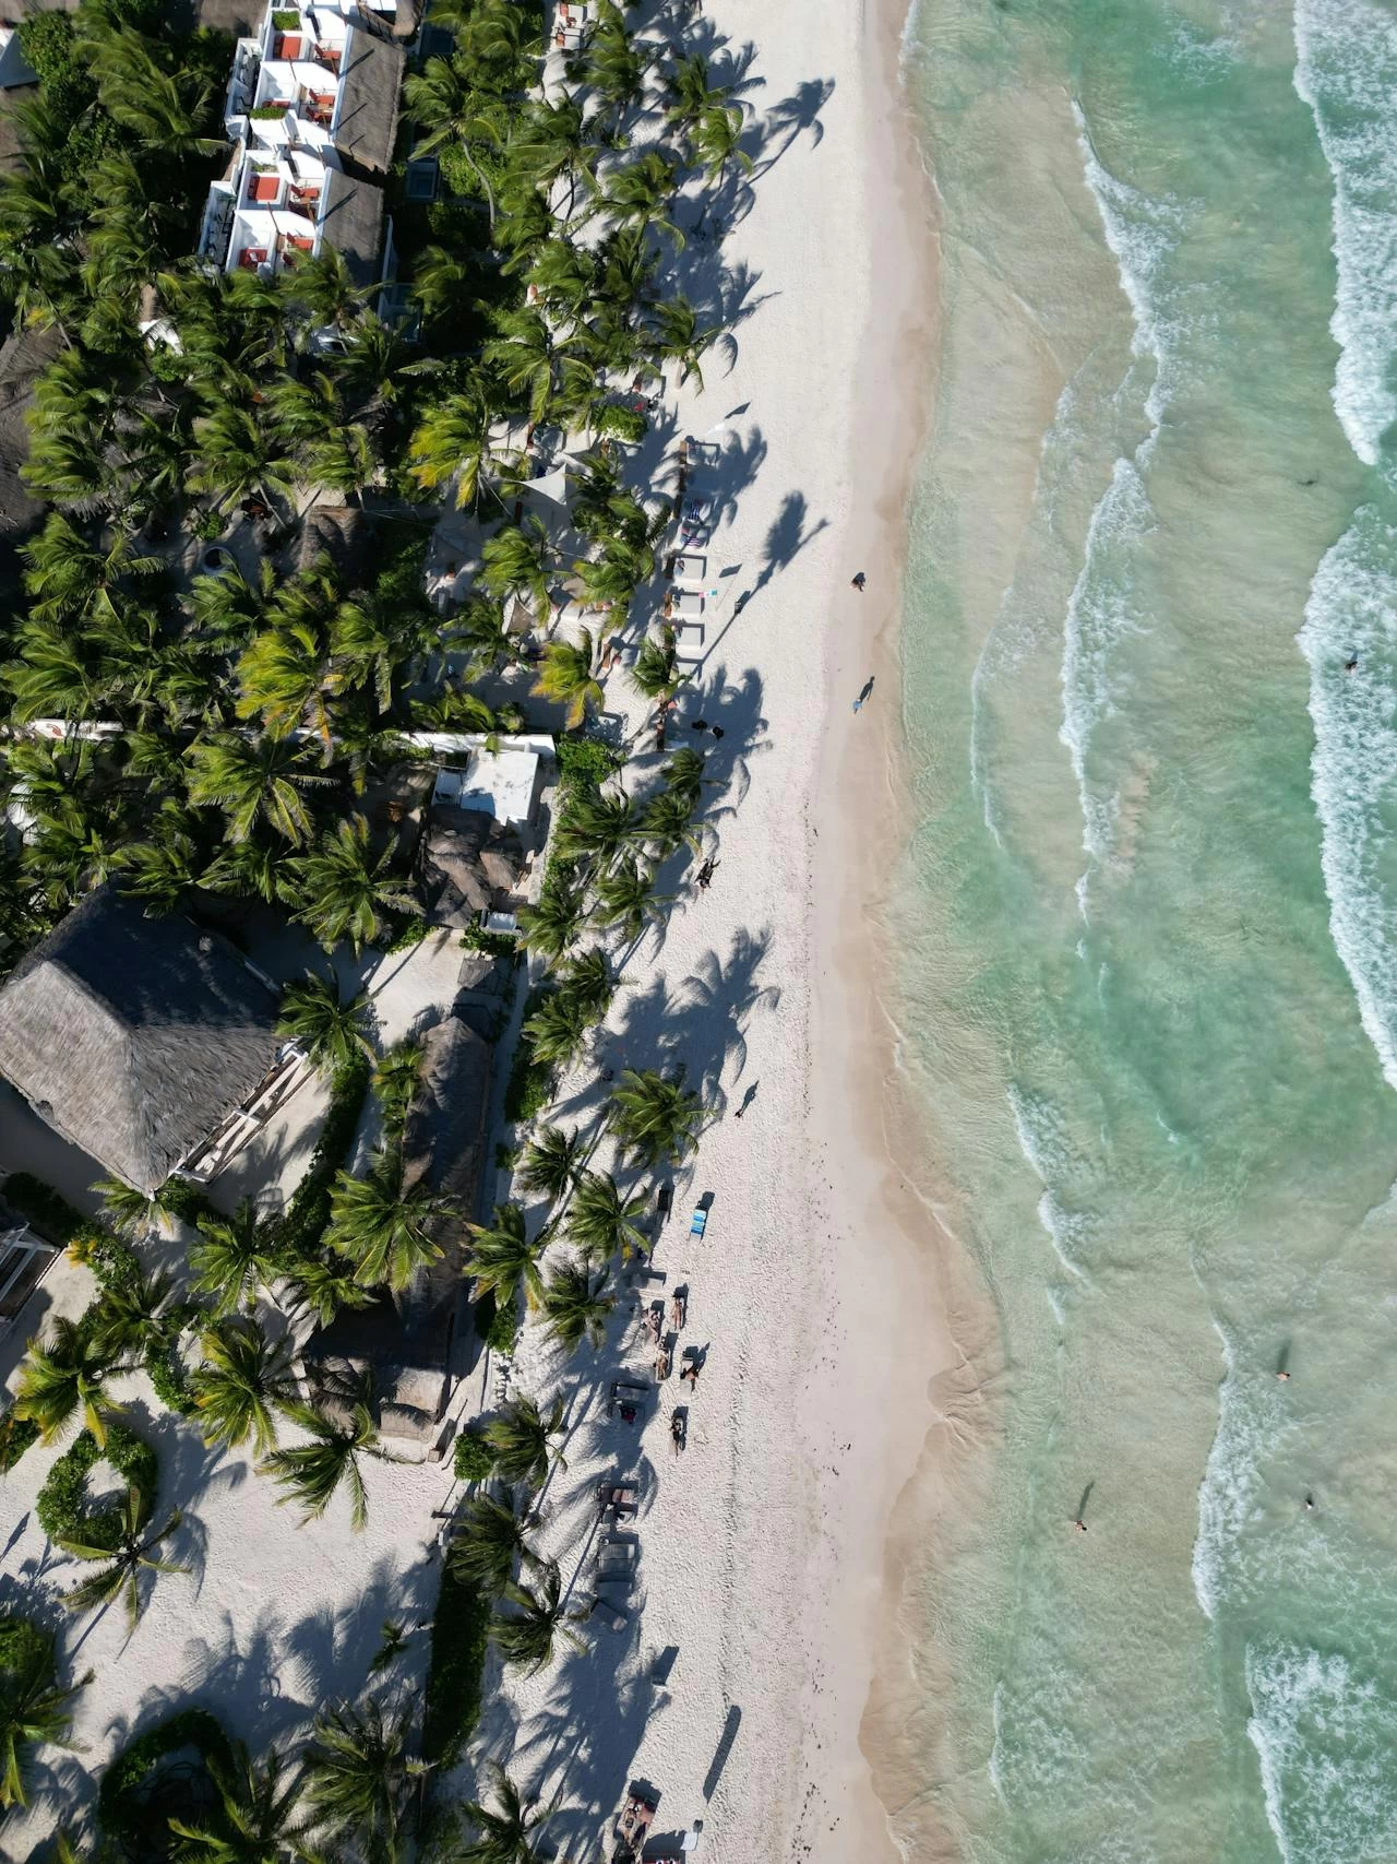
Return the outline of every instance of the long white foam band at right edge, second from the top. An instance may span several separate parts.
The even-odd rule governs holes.
[[[1330,934],[1397,1089],[1397,529],[1377,507],[1354,513],[1315,570],[1298,641],[1309,664],[1309,788]]]

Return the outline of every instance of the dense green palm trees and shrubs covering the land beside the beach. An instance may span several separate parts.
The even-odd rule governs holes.
[[[507,1085],[507,1117],[529,1128],[587,1057],[628,953],[663,915],[658,870],[698,846],[702,757],[676,751],[637,794],[624,753],[587,727],[672,514],[669,487],[626,483],[624,447],[646,427],[631,382],[697,377],[721,334],[669,289],[684,242],[674,196],[685,175],[723,183],[747,164],[743,110],[702,58],[639,43],[611,0],[548,97],[536,0],[440,6],[453,43],[417,60],[404,104],[414,155],[438,155],[445,188],[428,205],[391,203],[414,317],[384,321],[376,293],[354,287],[330,250],[274,280],[194,263],[207,179],[225,157],[229,48],[173,34],[153,7],[82,0],[22,30],[41,86],[24,106],[24,168],[0,177],[0,298],[15,328],[52,330],[58,347],[24,468],[45,514],[22,548],[24,598],[4,619],[0,656],[13,727],[0,783],[26,824],[19,852],[0,856],[4,962],[106,880],[155,913],[194,889],[259,900],[326,949],[419,936],[408,850],[371,822],[365,796],[402,762],[406,731],[529,723],[522,637],[505,624],[522,604],[542,637],[529,697],[572,727],[563,796],[520,939],[473,943],[531,960]],[[658,97],[669,134],[641,151],[633,129]],[[158,321],[149,339],[138,319]],[[576,554],[512,516],[544,434],[564,436],[574,459]],[[373,550],[296,567],[317,500],[361,513]],[[423,561],[447,500],[486,537],[477,585],[441,617]],[[559,583],[590,610],[566,637],[551,610]],[[633,688],[663,706],[680,680],[674,637],[658,621],[637,647]],[[520,695],[503,706],[497,686],[482,693],[501,673]],[[69,729],[28,734],[41,718]],[[0,1467],[35,1435],[80,1432],[41,1502],[52,1538],[93,1568],[67,1594],[75,1609],[119,1601],[134,1622],[160,1575],[181,1571],[166,1545],[179,1514],[155,1514],[153,1452],[114,1419],[112,1381],[134,1366],[209,1445],[246,1446],[305,1519],[339,1497],[359,1523],[363,1465],[389,1454],[367,1383],[333,1404],[304,1400],[281,1322],[326,1325],[402,1294],[440,1254],[441,1219],[471,1213],[406,1178],[419,1051],[374,1055],[367,1005],[317,979],[287,990],[281,1027],[330,1081],[330,1113],[279,1215],[222,1215],[179,1182],[153,1200],[108,1184],[93,1225],[19,1184],[35,1223],[45,1215],[99,1281],[84,1316],[32,1342],[0,1420]],[[352,1174],[369,1094],[382,1146]],[[600,1344],[611,1269],[646,1247],[643,1178],[684,1159],[702,1118],[682,1074],[643,1070],[617,1083],[594,1133],[518,1135],[520,1187],[548,1210],[540,1223],[505,1202],[471,1227],[475,1323],[494,1351],[512,1351],[522,1312],[563,1348]],[[604,1135],[630,1182],[589,1163]],[[181,1299],[143,1266],[145,1241],[175,1223],[196,1232]],[[456,1441],[456,1474],[475,1491],[453,1523],[432,1622],[427,1763],[454,1760],[477,1726],[490,1646],[533,1670],[579,1642],[561,1575],[531,1538],[563,1460],[561,1415],[514,1398]],[[285,1422],[294,1441],[281,1441]],[[82,1484],[99,1458],[127,1487],[95,1512]],[[384,1666],[402,1640],[399,1627]],[[58,1709],[45,1728],[26,1739],[58,1739]],[[132,1864],[184,1864],[307,1845],[391,1858],[415,1840],[423,1804],[414,1724],[384,1693],[326,1709],[294,1758],[251,1758],[203,1711],[177,1715],[114,1761],[99,1812]],[[536,1855],[544,1816],[505,1775],[466,1819],[475,1838],[462,1855]]]

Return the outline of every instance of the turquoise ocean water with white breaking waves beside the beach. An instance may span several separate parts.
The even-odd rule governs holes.
[[[1397,6],[918,0],[905,58],[894,923],[998,1329],[920,1812],[983,1864],[1391,1860]]]

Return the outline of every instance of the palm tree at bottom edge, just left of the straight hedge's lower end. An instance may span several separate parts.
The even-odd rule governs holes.
[[[410,1735],[412,1711],[386,1713],[373,1696],[319,1715],[305,1754],[305,1823],[352,1843],[365,1864],[397,1864],[412,1786],[427,1771],[408,1754]]]

